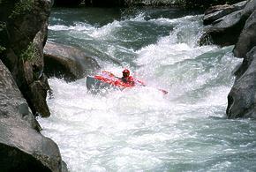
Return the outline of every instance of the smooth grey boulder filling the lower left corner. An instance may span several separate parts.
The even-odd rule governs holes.
[[[56,143],[39,132],[39,124],[1,60],[0,107],[1,171],[62,171]]]

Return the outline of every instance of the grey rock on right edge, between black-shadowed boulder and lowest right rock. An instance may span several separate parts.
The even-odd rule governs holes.
[[[233,53],[237,57],[245,57],[246,53],[254,46],[256,46],[256,11],[252,12],[247,19]]]

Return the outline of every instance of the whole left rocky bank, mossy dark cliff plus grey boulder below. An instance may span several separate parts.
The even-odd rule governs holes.
[[[49,0],[0,1],[0,169],[66,171],[34,116],[49,116],[43,73]]]

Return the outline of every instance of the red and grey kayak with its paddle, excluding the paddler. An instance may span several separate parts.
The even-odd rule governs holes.
[[[87,76],[87,89],[92,92],[98,92],[102,89],[121,89],[132,88],[133,86],[146,86],[139,79],[135,79],[135,85],[124,83],[122,79],[115,76],[109,71],[102,71],[101,75]],[[162,89],[159,89],[162,93],[167,94],[168,92]]]

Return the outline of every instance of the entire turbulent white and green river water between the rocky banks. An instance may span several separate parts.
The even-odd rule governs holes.
[[[51,116],[39,122],[70,171],[256,170],[256,124],[225,118],[241,60],[233,47],[199,47],[202,29],[202,15],[177,9],[52,12],[49,41],[84,50],[117,76],[129,68],[147,83],[92,94],[86,79],[49,79]]]

